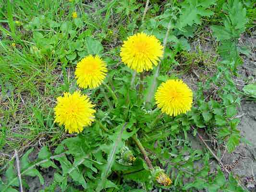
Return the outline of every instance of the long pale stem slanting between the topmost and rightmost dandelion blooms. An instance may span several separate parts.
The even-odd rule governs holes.
[[[171,19],[170,19],[170,22],[168,24],[167,31],[166,31],[166,34],[165,34],[165,37],[164,37],[163,51],[165,51],[165,47],[166,47],[166,44],[167,44],[167,39],[168,39],[168,36],[169,36],[170,29],[171,29]],[[164,55],[164,53],[163,53],[163,55]],[[146,102],[147,103],[150,102],[151,99],[153,98],[153,94],[154,94],[156,86],[157,86],[157,78],[159,76],[160,66],[161,66],[161,60],[159,61],[159,64],[158,64],[156,72],[154,73],[153,84],[152,84],[151,89],[149,91],[149,94],[148,94],[148,96],[146,98]]]

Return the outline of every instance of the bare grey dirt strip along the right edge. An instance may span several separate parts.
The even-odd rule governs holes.
[[[243,56],[244,64],[238,71],[240,80],[235,79],[237,88],[241,90],[246,82],[249,84],[256,82],[256,32],[251,37],[242,36],[240,43],[250,48],[251,51],[249,55]],[[256,177],[256,102],[244,99],[238,117],[241,120],[238,129],[249,143],[241,142],[232,154],[224,153],[222,161],[224,164],[231,165],[241,153],[244,153],[244,158],[234,167],[232,172],[243,179],[248,189],[256,191],[256,183],[247,183],[246,181],[250,177]]]

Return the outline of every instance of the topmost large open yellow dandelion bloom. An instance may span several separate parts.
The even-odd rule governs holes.
[[[120,56],[122,62],[136,72],[153,69],[163,56],[163,46],[155,36],[138,33],[123,42]]]

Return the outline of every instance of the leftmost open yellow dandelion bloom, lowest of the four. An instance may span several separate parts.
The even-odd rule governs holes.
[[[82,95],[80,91],[64,93],[64,96],[57,97],[55,122],[64,125],[69,133],[82,132],[85,126],[94,121],[96,110],[93,107],[88,96]]]

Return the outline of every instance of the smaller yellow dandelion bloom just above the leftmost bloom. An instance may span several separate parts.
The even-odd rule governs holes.
[[[96,88],[102,84],[107,71],[107,64],[98,55],[89,55],[77,63],[74,74],[80,87]]]

